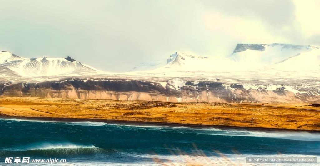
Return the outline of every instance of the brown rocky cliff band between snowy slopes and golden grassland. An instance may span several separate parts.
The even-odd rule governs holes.
[[[226,103],[318,103],[312,93],[293,93],[285,87],[276,90],[245,89],[241,84],[230,88],[220,82],[186,82],[178,90],[170,82],[139,80],[66,80],[41,83],[0,83],[0,95],[46,98],[112,99],[123,101],[226,102]]]

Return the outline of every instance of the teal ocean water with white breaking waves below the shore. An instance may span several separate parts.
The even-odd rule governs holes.
[[[246,163],[258,156],[320,160],[320,134],[0,119],[0,165],[296,165]]]

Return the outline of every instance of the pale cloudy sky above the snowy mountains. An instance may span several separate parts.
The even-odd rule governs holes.
[[[107,72],[237,43],[320,46],[319,0],[0,0],[0,50],[71,56]]]

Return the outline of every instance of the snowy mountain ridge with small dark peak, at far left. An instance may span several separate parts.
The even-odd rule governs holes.
[[[0,69],[3,77],[80,76],[101,74],[89,65],[71,57],[65,58],[22,58],[9,52],[0,52]],[[3,55],[3,56],[1,56]]]

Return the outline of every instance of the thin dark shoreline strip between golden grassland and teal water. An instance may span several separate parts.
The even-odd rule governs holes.
[[[228,129],[240,129],[247,131],[259,131],[259,132],[307,132],[307,133],[320,133],[319,130],[301,130],[301,129],[282,129],[282,128],[265,128],[265,127],[245,127],[245,126],[223,126],[223,125],[197,125],[197,124],[185,124],[185,123],[170,123],[170,122],[151,122],[151,121],[135,121],[135,120],[110,120],[110,119],[89,119],[89,118],[60,118],[60,117],[25,117],[25,116],[8,116],[0,114],[0,119],[21,119],[21,120],[38,120],[38,121],[52,121],[52,122],[104,122],[113,125],[139,125],[139,126],[169,126],[169,127],[188,127],[196,129],[216,128],[221,130]]]

